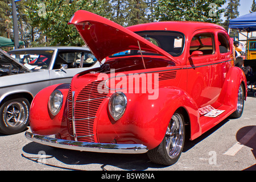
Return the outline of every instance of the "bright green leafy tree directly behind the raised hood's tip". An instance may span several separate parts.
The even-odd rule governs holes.
[[[107,1],[28,0],[26,14],[37,26],[51,46],[81,46],[82,40],[76,29],[68,25],[71,16],[80,9],[108,17]]]

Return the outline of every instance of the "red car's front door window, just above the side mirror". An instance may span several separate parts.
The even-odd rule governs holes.
[[[213,35],[210,33],[203,33],[195,35],[190,44],[189,53],[192,54],[193,51],[201,51],[203,55],[214,54],[214,39]]]

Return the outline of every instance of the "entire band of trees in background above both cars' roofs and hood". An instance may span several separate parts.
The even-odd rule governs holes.
[[[16,2],[19,39],[23,40],[27,47],[82,46],[84,42],[76,28],[68,25],[69,19],[77,10],[96,13],[125,27],[165,20],[220,24],[220,16],[224,12],[221,6],[225,2],[225,0],[22,0]],[[11,1],[0,0],[0,6],[0,35],[13,38]]]

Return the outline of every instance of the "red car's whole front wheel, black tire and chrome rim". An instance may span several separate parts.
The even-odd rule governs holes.
[[[180,158],[184,146],[184,117],[180,112],[172,115],[166,135],[158,147],[147,152],[154,163],[170,166]]]

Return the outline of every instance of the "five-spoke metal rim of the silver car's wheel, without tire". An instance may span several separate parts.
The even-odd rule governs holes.
[[[26,121],[26,109],[19,102],[11,102],[4,110],[5,123],[11,127],[22,125]]]

